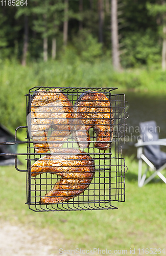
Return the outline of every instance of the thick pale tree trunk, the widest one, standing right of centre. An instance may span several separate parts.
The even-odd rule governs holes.
[[[117,0],[111,0],[111,39],[113,68],[118,71],[121,66],[118,46]]]

